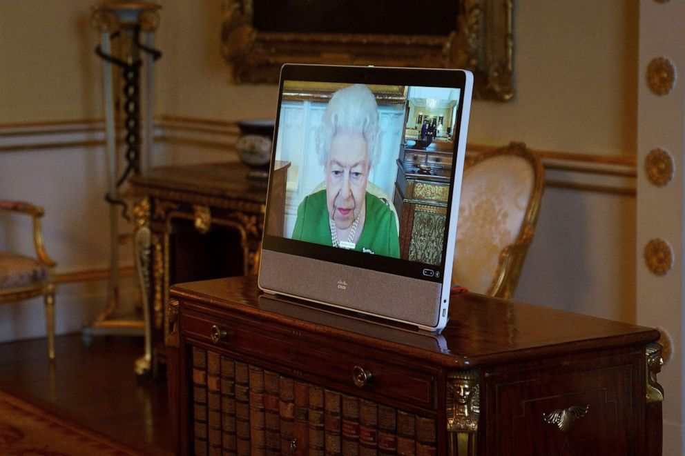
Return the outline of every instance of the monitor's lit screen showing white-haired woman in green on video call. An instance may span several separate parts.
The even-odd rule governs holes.
[[[459,81],[296,76],[280,85],[264,248],[443,281]]]

